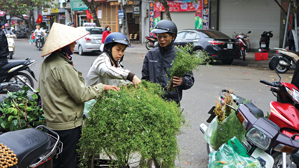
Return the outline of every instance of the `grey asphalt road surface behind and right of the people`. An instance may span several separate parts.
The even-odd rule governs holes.
[[[39,66],[43,61],[41,51],[38,51],[34,44],[31,46],[24,39],[16,39],[15,54],[12,60],[22,60],[30,57],[36,60],[35,67],[32,68],[37,79],[39,76]],[[141,78],[142,64],[146,53],[144,48],[128,48],[125,51],[123,65],[125,69],[129,69]],[[72,55],[74,67],[83,73],[86,78],[89,68],[98,54],[89,54],[80,56]],[[291,83],[294,71],[282,74],[282,81]],[[177,140],[180,146],[180,155],[176,160],[176,166],[181,168],[206,168],[208,164],[208,156],[206,152],[206,142],[203,134],[199,130],[201,123],[206,123],[209,115],[207,112],[215,104],[219,91],[221,89],[232,89],[233,92],[241,97],[252,100],[255,105],[267,114],[270,112],[269,103],[276,97],[261,84],[260,79],[268,82],[279,80],[275,72],[267,68],[252,68],[240,65],[222,65],[220,62],[213,63],[210,67],[200,67],[200,72],[193,72],[195,83],[189,90],[183,91],[181,108],[184,108],[186,121],[189,127],[185,127]],[[34,88],[38,87],[38,83],[34,82]]]

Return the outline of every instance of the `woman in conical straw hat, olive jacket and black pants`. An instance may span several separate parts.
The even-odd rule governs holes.
[[[53,160],[53,168],[76,168],[77,143],[81,136],[84,102],[99,97],[104,90],[120,90],[114,85],[85,86],[82,74],[73,67],[71,55],[76,40],[89,32],[53,23],[41,57],[38,87],[47,127],[60,136],[63,152]]]

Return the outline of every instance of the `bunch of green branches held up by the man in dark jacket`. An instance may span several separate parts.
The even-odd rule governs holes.
[[[209,56],[205,51],[193,52],[193,45],[187,44],[186,46],[175,46],[175,59],[172,60],[172,67],[167,69],[170,73],[170,84],[168,91],[173,91],[173,77],[183,77],[185,74],[193,70],[199,70],[200,65],[209,65]]]

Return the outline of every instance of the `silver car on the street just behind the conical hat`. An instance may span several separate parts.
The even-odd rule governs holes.
[[[102,34],[105,31],[103,27],[96,26],[82,26],[77,29],[83,31],[89,31],[90,33],[79,40],[75,46],[74,52],[78,52],[79,55],[84,55],[86,52],[99,52],[102,44]]]

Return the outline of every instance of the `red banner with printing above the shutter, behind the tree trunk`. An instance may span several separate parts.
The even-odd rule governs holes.
[[[201,1],[201,3],[200,3]],[[202,9],[202,0],[198,0],[198,3],[195,1],[192,2],[177,2],[177,1],[168,1],[169,11],[196,11]],[[160,2],[154,3],[154,11],[165,11],[164,6]]]

